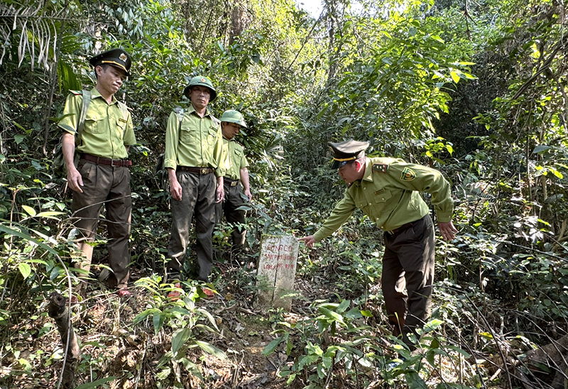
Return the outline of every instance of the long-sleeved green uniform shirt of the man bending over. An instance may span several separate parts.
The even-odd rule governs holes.
[[[337,231],[356,208],[384,231],[425,217],[428,206],[420,192],[432,194],[439,221],[452,220],[454,202],[449,182],[437,170],[395,158],[367,158],[365,174],[345,191],[314,239],[320,241]]]

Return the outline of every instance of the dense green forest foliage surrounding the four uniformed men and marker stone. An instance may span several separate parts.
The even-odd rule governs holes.
[[[130,153],[131,266],[143,298],[75,311],[89,351],[78,370],[84,388],[183,388],[188,373],[197,386],[214,380],[205,356],[236,353],[228,327],[222,336],[222,314],[199,306],[200,287],[187,285],[174,304],[163,298],[172,286],[160,279],[170,212],[155,160],[166,118],[187,106],[182,90],[194,75],[218,87],[214,114],[239,109],[250,126],[239,136],[255,197],[248,265],[227,277],[221,261],[214,285],[230,295],[225,309],[248,311],[244,322],[271,336],[261,349],[278,353],[268,378],[274,387],[564,388],[555,386],[562,366],[537,375],[523,364],[525,351],[568,328],[564,3],[324,0],[322,7],[311,16],[286,0],[1,1],[0,388],[58,382],[62,349],[45,310],[51,292],[77,283],[70,266],[77,252],[70,196],[52,167],[56,122],[67,92],[94,82],[88,57],[116,46],[133,56],[117,97],[133,109],[138,139]],[[300,319],[250,310],[261,235],[317,229],[344,191],[327,165],[327,141],[345,138],[368,140],[372,155],[433,166],[452,182],[459,236],[438,242],[422,354],[388,337],[377,287],[381,233],[361,213],[315,251],[300,249]],[[226,231],[216,233],[220,250]],[[98,272],[104,250],[95,253]],[[100,324],[89,309],[102,310]],[[99,326],[104,336],[87,340]],[[145,339],[133,342],[146,345],[137,355],[148,363],[111,366],[104,340],[131,343],[128,334]],[[41,349],[45,343],[51,348]],[[405,360],[388,368],[397,355]]]

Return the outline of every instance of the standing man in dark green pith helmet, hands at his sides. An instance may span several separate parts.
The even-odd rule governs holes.
[[[165,131],[164,168],[168,170],[172,195],[172,231],[168,244],[168,279],[180,287],[189,243],[190,224],[195,214],[197,275],[209,281],[213,265],[212,234],[215,203],[224,197],[221,157],[223,141],[219,120],[207,109],[217,97],[209,78],[193,77],[183,93],[189,108],[175,109]],[[209,290],[204,290],[206,293]],[[170,292],[177,298],[180,292]]]

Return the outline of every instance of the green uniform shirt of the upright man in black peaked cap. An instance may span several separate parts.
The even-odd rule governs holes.
[[[67,96],[63,109],[64,117],[58,126],[75,134],[82,104],[81,92],[72,91]],[[133,144],[136,144],[136,136],[130,111],[114,96],[111,104],[108,104],[96,88],[91,89],[91,102],[77,151],[103,158],[124,159],[129,156],[125,146]]]

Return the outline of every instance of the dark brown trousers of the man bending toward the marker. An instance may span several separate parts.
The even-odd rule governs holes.
[[[395,234],[385,233],[381,284],[393,335],[422,328],[430,317],[435,265],[434,225],[430,215]]]

